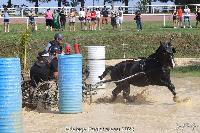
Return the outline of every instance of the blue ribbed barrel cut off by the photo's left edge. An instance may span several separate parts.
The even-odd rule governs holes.
[[[0,133],[22,133],[19,58],[0,58]]]

